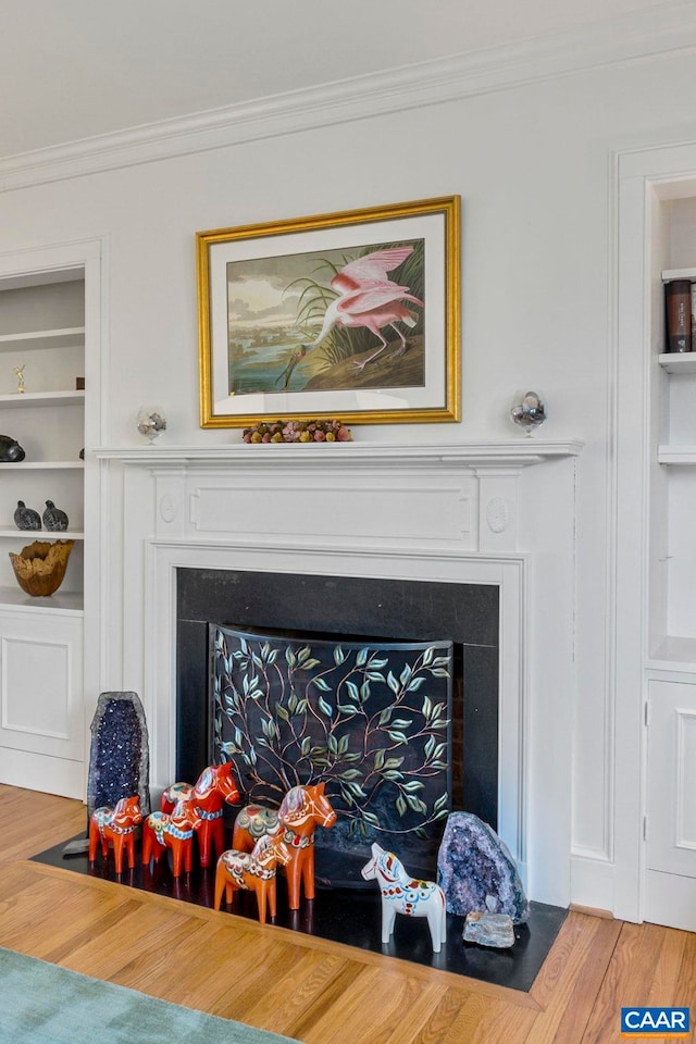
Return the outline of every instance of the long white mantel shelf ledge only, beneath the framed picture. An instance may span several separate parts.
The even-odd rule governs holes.
[[[547,460],[577,457],[584,443],[577,438],[550,440],[535,437],[477,439],[467,443],[334,443],[332,445],[287,445],[266,443],[249,446],[103,446],[94,450],[100,460],[119,460],[146,468],[238,467],[259,468],[268,463],[308,464],[311,468],[340,458],[346,465],[461,464],[470,468],[525,468]]]

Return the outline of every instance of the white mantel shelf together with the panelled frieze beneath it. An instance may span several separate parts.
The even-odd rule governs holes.
[[[518,548],[521,471],[582,448],[577,439],[524,436],[433,445],[162,442],[101,448],[96,456],[154,476],[159,540],[256,540],[262,533],[274,543],[315,545],[331,536],[350,545],[398,540],[495,552]],[[278,497],[279,526],[269,522]],[[253,505],[251,512],[245,504]]]

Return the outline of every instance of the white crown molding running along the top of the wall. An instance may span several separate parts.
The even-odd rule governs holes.
[[[0,159],[0,191],[439,104],[696,48],[692,0]]]

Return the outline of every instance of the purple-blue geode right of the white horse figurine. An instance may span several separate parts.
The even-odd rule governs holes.
[[[437,883],[447,910],[507,913],[514,924],[530,916],[518,868],[495,830],[471,812],[451,812],[437,854]]]

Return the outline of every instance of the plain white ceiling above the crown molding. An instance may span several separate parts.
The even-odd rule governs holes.
[[[0,0],[0,158],[672,0]]]

